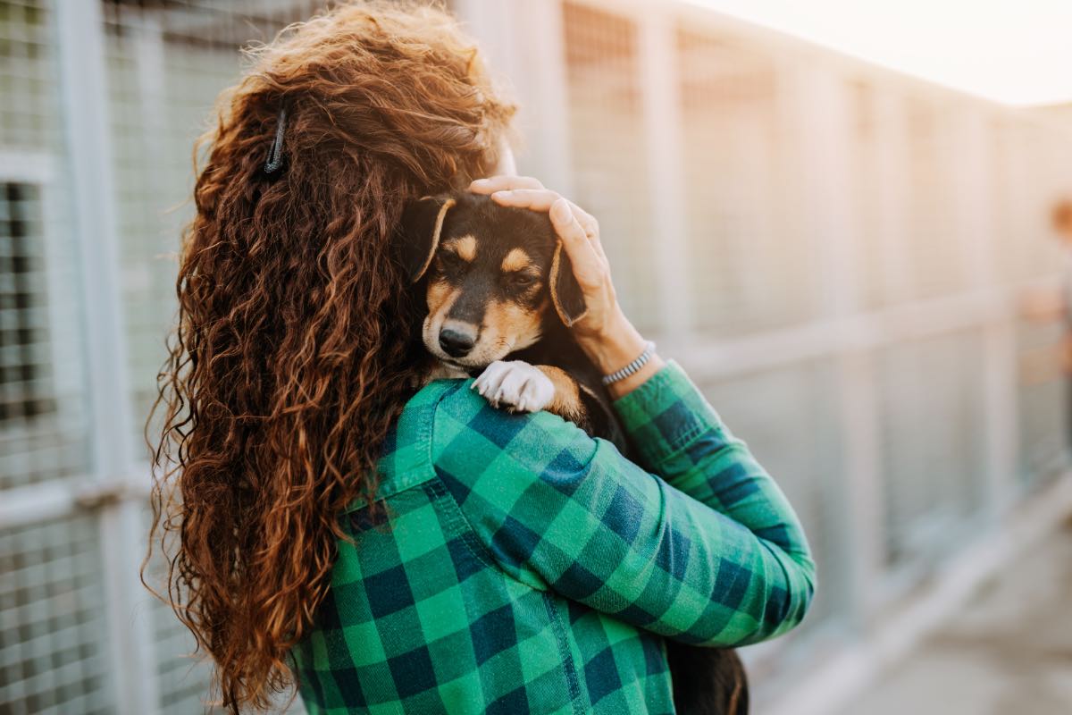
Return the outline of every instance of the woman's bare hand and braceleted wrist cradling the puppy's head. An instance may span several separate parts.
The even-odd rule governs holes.
[[[546,189],[538,180],[523,176],[493,176],[477,179],[470,191],[491,194],[502,206],[516,206],[550,214],[551,225],[569,254],[587,313],[574,324],[578,344],[604,374],[631,362],[646,342],[625,317],[614,294],[610,264],[599,242],[599,223],[592,214],[556,192]],[[609,388],[621,397],[639,387],[662,366],[659,357],[652,359],[636,374]]]

